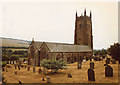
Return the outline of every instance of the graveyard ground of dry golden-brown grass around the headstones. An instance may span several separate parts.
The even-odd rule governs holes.
[[[23,67],[16,67],[12,64],[7,64],[7,67],[4,68],[5,71],[2,73],[7,80],[7,83],[47,83],[47,78],[49,78],[51,83],[118,83],[118,62],[113,64],[110,61],[109,66],[113,69],[113,75],[111,77],[106,77],[105,75],[110,74],[105,72],[105,60],[94,61],[94,81],[88,81],[88,69],[90,68],[90,60],[82,62],[81,69],[78,69],[77,62],[67,64],[67,69],[59,70],[57,73],[51,73],[49,70],[46,70],[43,74],[42,67],[33,67],[23,64]],[[26,66],[26,67],[25,67]],[[29,67],[29,68],[28,68]],[[7,68],[7,70],[6,70]],[[39,68],[41,71],[38,71]],[[70,76],[68,76],[70,74]],[[92,75],[91,73],[89,74]]]

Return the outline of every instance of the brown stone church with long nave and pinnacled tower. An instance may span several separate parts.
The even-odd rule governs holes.
[[[59,60],[68,63],[91,57],[93,52],[92,13],[78,16],[76,12],[74,44],[37,42],[32,40],[28,48],[28,65],[40,66],[43,59]]]

